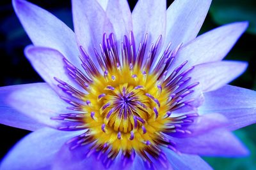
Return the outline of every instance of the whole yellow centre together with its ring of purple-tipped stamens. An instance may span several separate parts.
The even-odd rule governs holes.
[[[86,91],[81,92],[54,78],[59,83],[58,87],[70,96],[61,97],[72,105],[67,109],[75,113],[61,114],[52,119],[66,121],[59,128],[63,131],[86,129],[83,134],[70,140],[73,145],[71,149],[89,145],[87,155],[106,153],[106,167],[120,152],[124,159],[133,159],[137,153],[148,167],[154,166],[152,159],[166,166],[161,147],[176,151],[175,144],[168,136],[190,134],[186,127],[197,117],[196,114],[170,115],[193,102],[186,96],[194,92],[191,89],[198,83],[189,82],[191,78],[188,74],[193,67],[179,73],[188,61],[170,72],[180,46],[170,50],[168,45],[154,64],[160,41],[161,36],[156,45],[150,46],[145,57],[147,34],[136,50],[131,32],[129,38],[124,36],[121,54],[118,54],[113,34],[109,38],[104,34],[100,44],[102,56],[95,50],[99,66],[95,66],[84,48],[80,47],[80,59],[86,74],[64,59],[68,74]]]

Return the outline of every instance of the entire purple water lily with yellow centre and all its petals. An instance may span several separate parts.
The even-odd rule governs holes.
[[[46,83],[1,87],[1,124],[35,132],[0,169],[211,169],[198,155],[247,155],[230,131],[256,122],[256,93],[226,85],[247,64],[222,59],[248,23],[196,37],[210,4],[73,0],[74,33],[13,0]]]

